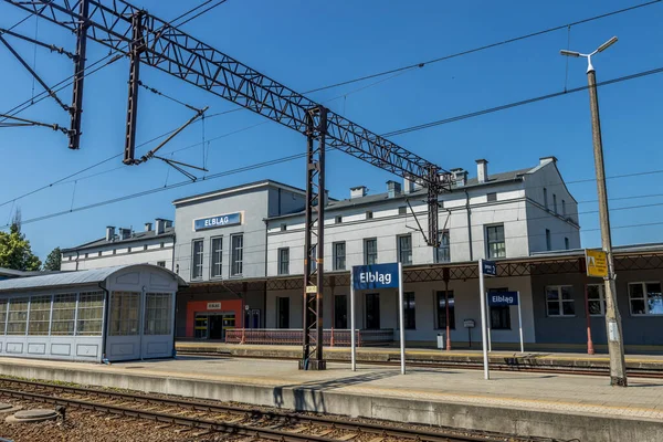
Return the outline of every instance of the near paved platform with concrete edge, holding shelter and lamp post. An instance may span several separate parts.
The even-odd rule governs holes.
[[[0,375],[582,442],[659,442],[663,379],[178,356],[95,365],[0,358]]]

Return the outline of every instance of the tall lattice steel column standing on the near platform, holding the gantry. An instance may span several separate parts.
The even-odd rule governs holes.
[[[327,109],[316,107],[306,115],[306,232],[304,238],[304,348],[299,369],[324,370],[323,290],[325,257],[325,135]],[[317,127],[315,122],[317,120]],[[315,138],[318,138],[315,147]],[[313,252],[317,256],[314,256]],[[313,265],[315,260],[316,265]]]

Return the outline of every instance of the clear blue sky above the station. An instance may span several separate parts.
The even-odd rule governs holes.
[[[555,2],[438,0],[228,0],[181,29],[242,63],[305,93],[347,80],[418,64],[478,46],[566,25],[644,3],[602,0]],[[171,20],[202,0],[140,0],[135,4]],[[0,3],[0,28],[27,15]],[[598,81],[663,67],[663,2],[588,23],[519,40],[422,67],[306,94],[332,110],[385,134],[429,122],[552,94],[587,84],[587,63],[559,55],[560,49],[591,52],[612,35],[619,42],[593,60]],[[52,23],[29,19],[15,29],[74,52],[75,36]],[[48,84],[72,75],[71,61],[48,49],[6,35]],[[88,43],[88,65],[108,54]],[[31,75],[0,46],[0,113],[41,92]],[[172,219],[172,201],[185,196],[275,179],[304,187],[304,160],[228,173],[214,179],[140,198],[127,194],[187,179],[161,161],[123,166],[106,161],[45,190],[48,186],[124,150],[128,60],[122,59],[85,80],[80,150],[66,137],[44,127],[0,128],[0,227],[20,208],[23,232],[43,260],[55,246],[71,248],[102,238],[106,225],[140,230],[155,218]],[[238,106],[168,74],[144,66],[141,81],[208,115]],[[34,92],[33,92],[34,91]],[[71,102],[71,87],[59,95]],[[663,242],[663,73],[599,88],[606,175],[614,244]],[[19,114],[69,126],[69,115],[53,99]],[[192,110],[145,90],[139,93],[137,144],[172,130]],[[390,138],[444,169],[462,167],[475,176],[475,159],[490,161],[488,172],[534,167],[556,156],[570,192],[579,201],[582,246],[600,245],[589,98],[587,91],[562,95]],[[304,137],[249,110],[232,112],[186,128],[160,152],[206,165],[208,175],[302,154]],[[206,158],[207,157],[207,158]],[[99,175],[101,173],[101,175]],[[199,173],[203,178],[203,173]],[[327,156],[332,197],[349,188],[386,191],[393,179],[343,152]],[[99,201],[118,202],[76,210]],[[63,213],[49,217],[53,213]],[[45,217],[45,218],[44,218]],[[643,225],[650,224],[650,225]]]

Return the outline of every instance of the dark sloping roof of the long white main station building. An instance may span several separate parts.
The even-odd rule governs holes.
[[[465,186],[453,188],[452,192],[457,191],[457,190],[483,187],[483,186],[493,186],[493,185],[498,185],[498,183],[504,183],[504,182],[518,181],[518,180],[523,179],[524,175],[529,173],[532,170],[533,170],[533,168],[527,168],[527,169],[518,169],[518,170],[512,170],[512,171],[501,172],[501,173],[493,173],[492,176],[488,177],[488,180],[485,182],[478,182],[478,180],[476,178],[471,178],[467,180],[467,183]],[[420,190],[415,190],[410,193],[400,193],[392,198],[389,198],[389,193],[385,192],[385,193],[367,194],[366,197],[350,198],[350,199],[345,199],[345,200],[340,200],[340,201],[329,200],[329,203],[325,207],[325,211],[329,212],[329,211],[341,210],[341,209],[347,209],[347,208],[352,208],[352,207],[370,206],[370,204],[379,203],[381,201],[397,201],[400,199],[411,198],[413,196],[425,196],[427,192],[428,192],[428,190],[420,189]],[[305,211],[302,210],[302,211],[291,212],[291,213],[286,213],[286,214],[282,214],[282,215],[277,215],[277,217],[271,217],[271,218],[267,218],[267,220],[285,219],[285,218],[302,215],[304,213],[305,213]]]

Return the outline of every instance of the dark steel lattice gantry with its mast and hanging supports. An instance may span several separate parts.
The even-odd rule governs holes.
[[[123,0],[4,0],[69,29],[77,35],[76,75],[83,86],[85,40],[92,39],[129,57],[130,80],[138,81],[138,64],[156,67],[241,107],[263,115],[306,136],[306,254],[304,260],[303,369],[325,369],[323,358],[323,282],[325,150],[334,148],[417,181],[428,188],[427,242],[439,245],[438,196],[451,186],[451,175],[420,156],[330,112],[304,95],[261,74],[167,21]],[[131,93],[136,93],[130,87]],[[82,91],[74,97],[82,97]],[[130,96],[135,101],[135,95]],[[135,102],[129,102],[125,164],[136,164],[130,127]],[[134,106],[131,106],[134,103]],[[74,98],[75,109],[81,103]],[[133,115],[131,112],[134,113]],[[76,114],[80,118],[80,114]],[[133,119],[129,119],[133,118]],[[80,120],[77,122],[80,127]],[[80,134],[80,131],[77,131]],[[315,256],[314,256],[315,254]]]

